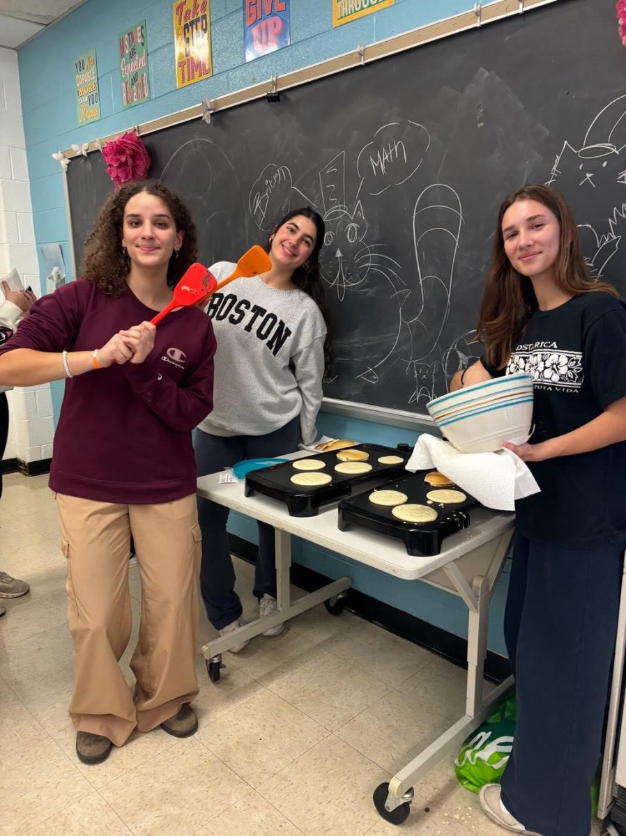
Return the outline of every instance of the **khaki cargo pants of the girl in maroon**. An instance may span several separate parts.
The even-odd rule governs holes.
[[[198,694],[196,497],[118,505],[58,493],[56,501],[74,640],[69,716],[78,731],[121,746],[134,728],[149,732]],[[134,694],[118,664],[131,638],[131,532],[141,577],[141,624],[131,659]]]

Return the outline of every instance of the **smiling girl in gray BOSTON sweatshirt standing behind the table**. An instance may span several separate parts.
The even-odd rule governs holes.
[[[198,476],[314,441],[330,360],[319,268],[324,232],[324,221],[310,207],[289,212],[269,235],[269,271],[236,279],[211,297],[207,313],[218,338],[215,409],[196,433]],[[220,280],[233,267],[218,262],[211,271]],[[205,543],[200,591],[209,621],[225,635],[241,626],[242,614],[226,533],[228,508],[198,497],[198,518]],[[254,595],[261,616],[275,612],[274,529],[265,523],[259,523]],[[278,635],[283,627],[263,635]]]

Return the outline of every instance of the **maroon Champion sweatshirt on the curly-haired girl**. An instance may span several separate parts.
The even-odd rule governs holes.
[[[155,314],[130,288],[113,297],[80,279],[39,299],[0,354],[93,351]],[[180,308],[158,325],[143,363],[114,364],[65,380],[52,490],[140,505],[195,493],[192,430],[213,409],[214,353],[208,316]]]

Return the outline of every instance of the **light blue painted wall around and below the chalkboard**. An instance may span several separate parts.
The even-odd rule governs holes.
[[[90,0],[18,51],[28,173],[38,245],[60,242],[69,267],[69,234],[59,163],[51,155],[96,137],[114,134],[157,117],[198,104],[203,96],[216,98],[309,64],[346,53],[359,44],[373,43],[409,29],[448,18],[474,7],[470,0],[396,0],[391,8],[333,29],[330,0],[291,0],[291,45],[249,64],[244,62],[243,0],[211,0],[213,77],[178,90],[174,74],[172,4],[137,0]],[[118,69],[117,37],[145,19],[151,99],[123,110]],[[73,59],[96,49],[102,118],[76,124]],[[42,288],[44,289],[44,288]],[[63,384],[53,385],[54,414],[59,415]],[[319,428],[331,436],[354,436],[363,441],[395,445],[414,441],[415,433],[390,426],[321,415]],[[231,528],[249,539],[255,527],[234,517]],[[458,599],[425,584],[408,584],[354,565],[307,546],[296,558],[318,571],[338,576],[346,571],[363,592],[466,635],[466,610]],[[501,616],[505,581],[495,596],[490,625],[490,647],[504,653]]]

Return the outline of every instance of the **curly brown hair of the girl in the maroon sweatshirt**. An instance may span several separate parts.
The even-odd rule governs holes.
[[[198,258],[196,227],[187,206],[177,193],[157,180],[126,183],[106,198],[95,227],[85,241],[79,272],[82,278],[89,279],[110,296],[117,296],[126,288],[131,261],[121,246],[124,209],[131,197],[142,191],[160,197],[172,212],[176,231],[185,233],[178,256],[172,256],[167,267],[167,284],[171,288],[175,287],[182,274]]]

